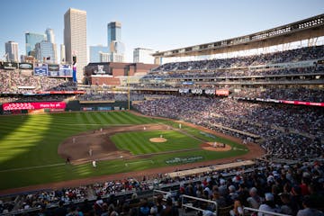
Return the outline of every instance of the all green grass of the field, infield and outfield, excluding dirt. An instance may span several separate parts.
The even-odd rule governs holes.
[[[118,133],[112,136],[117,148],[127,149],[134,155],[172,152],[183,148],[198,148],[203,140],[221,140],[237,150],[212,152],[202,149],[158,154],[132,160],[99,161],[91,164],[66,165],[58,156],[58,145],[64,139],[86,130],[115,125],[167,123],[171,121],[139,117],[130,112],[68,112],[55,114],[0,116],[0,190],[90,177],[110,175],[159,166],[173,166],[166,161],[174,157],[194,157],[211,160],[247,153],[245,147],[227,139],[211,138],[199,130],[183,127],[185,133],[175,130]],[[176,124],[174,125],[176,126]],[[149,138],[163,135],[164,143],[151,143]],[[195,136],[198,139],[193,139]]]

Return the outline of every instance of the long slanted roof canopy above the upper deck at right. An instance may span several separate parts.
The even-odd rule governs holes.
[[[257,49],[324,36],[324,14],[266,31],[191,47],[156,52],[155,58],[202,56]]]

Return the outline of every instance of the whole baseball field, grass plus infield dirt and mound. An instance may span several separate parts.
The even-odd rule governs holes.
[[[228,148],[208,150],[203,148],[206,143]],[[236,141],[132,112],[1,116],[0,191],[239,157],[247,152]]]

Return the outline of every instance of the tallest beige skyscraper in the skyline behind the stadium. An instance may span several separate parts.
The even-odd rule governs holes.
[[[66,62],[73,63],[76,56],[76,78],[82,82],[86,62],[86,12],[69,8],[64,14],[64,45]]]

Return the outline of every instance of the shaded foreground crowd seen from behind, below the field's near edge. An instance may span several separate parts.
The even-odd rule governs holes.
[[[15,211],[25,212],[24,215],[34,207],[39,208],[39,215],[181,215],[183,197],[189,195],[217,202],[219,211],[229,207],[227,213],[235,216],[243,215],[244,207],[298,216],[323,215],[320,211],[323,210],[323,183],[322,158],[289,165],[256,161],[254,166],[181,177],[155,175],[141,181],[129,178],[29,193],[19,197],[15,204],[0,202],[0,212],[10,212],[15,206]],[[168,193],[157,194],[155,199],[152,195],[139,197],[141,192],[154,188],[164,188]],[[121,195],[125,192],[130,192],[131,196]],[[184,203],[189,202],[203,210],[201,215],[211,215],[216,209],[213,204],[184,197]],[[49,209],[54,205],[58,207]]]

